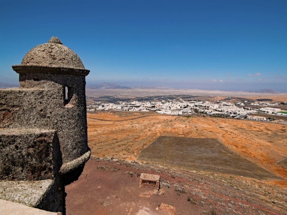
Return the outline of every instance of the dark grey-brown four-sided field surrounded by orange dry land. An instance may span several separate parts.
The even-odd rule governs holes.
[[[280,179],[214,138],[159,136],[141,150],[138,160],[263,180]]]

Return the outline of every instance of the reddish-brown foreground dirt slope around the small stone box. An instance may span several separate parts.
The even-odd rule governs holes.
[[[141,173],[160,175],[162,188],[139,188]],[[277,186],[122,161],[90,159],[65,191],[67,215],[287,214],[286,190]]]

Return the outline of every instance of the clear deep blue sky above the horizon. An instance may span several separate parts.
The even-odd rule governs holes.
[[[87,83],[287,92],[287,1],[3,1],[0,82],[57,36]]]

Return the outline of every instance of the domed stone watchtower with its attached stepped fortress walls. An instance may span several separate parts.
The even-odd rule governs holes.
[[[65,212],[64,186],[77,180],[90,158],[85,97],[90,71],[56,37],[12,68],[20,88],[0,90],[0,198]],[[19,184],[28,186],[24,193]]]

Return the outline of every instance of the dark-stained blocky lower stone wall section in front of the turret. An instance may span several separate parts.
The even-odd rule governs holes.
[[[53,179],[61,167],[55,131],[0,130],[0,179]]]

